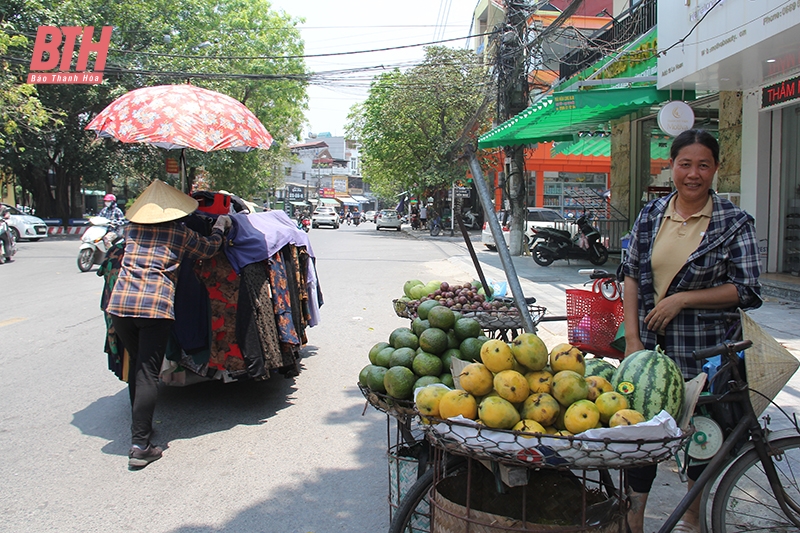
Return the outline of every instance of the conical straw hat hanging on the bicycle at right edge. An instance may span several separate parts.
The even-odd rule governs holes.
[[[758,416],[769,405],[767,398],[775,398],[789,382],[800,361],[744,311],[739,310],[739,315],[742,320],[742,339],[753,341],[753,346],[745,352],[744,364],[747,382],[752,389],[750,403]],[[752,391],[758,391],[767,398]]]

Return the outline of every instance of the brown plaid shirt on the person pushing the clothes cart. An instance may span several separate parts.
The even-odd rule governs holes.
[[[184,258],[207,259],[222,244],[219,230],[203,237],[182,222],[128,228],[125,256],[106,306],[117,316],[175,319],[175,282]]]

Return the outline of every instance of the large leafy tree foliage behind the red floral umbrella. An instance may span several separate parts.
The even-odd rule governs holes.
[[[282,179],[272,169],[288,157],[289,139],[300,133],[306,74],[298,21],[272,11],[267,0],[10,0],[0,6],[2,21],[12,24],[16,35],[29,36],[40,25],[93,25],[96,34],[99,27],[114,27],[100,85],[28,86],[32,39],[14,54],[19,61],[8,72],[13,89],[34,90],[41,109],[62,117],[46,134],[16,128],[0,146],[0,167],[33,195],[38,213],[80,216],[81,188],[125,184],[129,191],[114,192],[135,196],[153,177],[164,178],[164,160],[176,153],[98,141],[84,130],[115,98],[149,85],[189,82],[225,93],[244,103],[272,134],[275,143],[267,152],[187,150],[188,166],[204,167],[213,187],[249,196]],[[0,85],[0,98],[6,93]]]

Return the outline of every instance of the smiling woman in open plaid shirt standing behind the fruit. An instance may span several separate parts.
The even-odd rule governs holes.
[[[702,372],[693,350],[725,340],[722,324],[701,322],[709,309],[734,311],[761,305],[753,218],[711,189],[719,144],[703,130],[678,135],[670,149],[675,192],[648,203],[634,223],[625,275],[625,355],[656,345],[691,379]],[[656,467],[629,470],[628,525],[641,533]],[[689,488],[702,472],[689,468]],[[700,502],[673,531],[699,528]]]

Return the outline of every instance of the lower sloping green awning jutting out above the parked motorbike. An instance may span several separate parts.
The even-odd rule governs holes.
[[[694,92],[682,97],[694,99]],[[670,99],[655,85],[563,91],[545,96],[478,139],[478,148],[571,141],[581,131],[600,131],[609,120]]]

